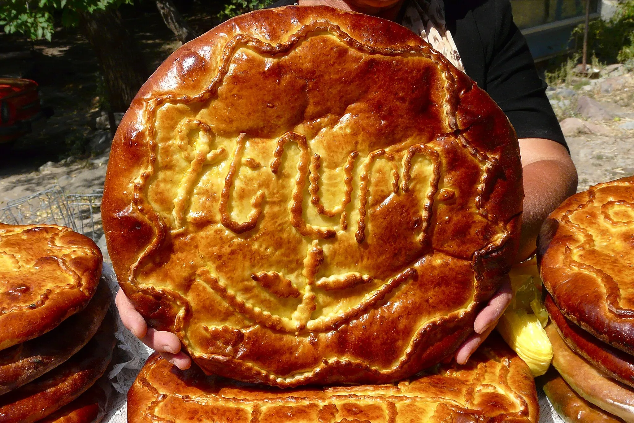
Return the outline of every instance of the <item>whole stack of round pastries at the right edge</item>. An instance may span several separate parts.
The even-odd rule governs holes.
[[[539,256],[559,372],[548,397],[568,421],[634,422],[634,177],[568,198]]]

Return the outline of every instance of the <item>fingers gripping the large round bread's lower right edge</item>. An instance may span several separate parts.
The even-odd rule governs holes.
[[[491,330],[495,329],[498,324],[501,315],[507,309],[508,304],[511,303],[512,290],[511,280],[508,276],[505,278],[505,282],[498,289],[493,297],[489,300],[486,306],[481,309],[480,313],[475,317],[474,330],[472,334],[462,345],[456,350],[456,363],[465,364],[474,351],[484,342],[486,337],[489,336]]]

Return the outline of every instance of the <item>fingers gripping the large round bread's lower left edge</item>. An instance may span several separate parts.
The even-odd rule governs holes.
[[[117,292],[115,303],[119,310],[121,322],[123,322],[123,325],[138,337],[141,342],[159,352],[165,360],[168,360],[181,370],[190,368],[191,358],[181,351],[181,341],[178,339],[178,336],[172,334],[172,332],[163,332],[161,330],[148,328],[143,316],[134,309],[134,306],[120,288],[119,292]]]

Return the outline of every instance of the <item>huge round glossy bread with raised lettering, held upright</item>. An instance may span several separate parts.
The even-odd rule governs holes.
[[[500,108],[410,30],[325,6],[188,42],[141,88],[101,206],[119,283],[205,372],[415,374],[472,332],[517,247]]]

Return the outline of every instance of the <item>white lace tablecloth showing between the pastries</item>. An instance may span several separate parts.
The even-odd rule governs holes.
[[[117,394],[110,403],[110,411],[102,421],[105,423],[126,423],[127,390],[132,386],[145,360],[152,354],[152,350],[139,341],[132,332],[124,328],[123,323],[121,323],[119,314],[116,313],[114,307],[114,299],[117,290],[119,290],[119,284],[117,283],[117,277],[112,267],[107,263],[103,263],[103,277],[107,280],[110,291],[112,292],[112,309],[115,312],[115,319],[117,320],[116,337],[117,348],[119,348],[117,352],[119,362],[114,365],[112,371],[108,374],[108,378],[112,382],[112,386],[116,389]],[[550,405],[548,398],[546,398],[540,386],[537,388],[537,394],[540,401],[540,423],[564,423],[564,420],[553,410],[552,405]]]

